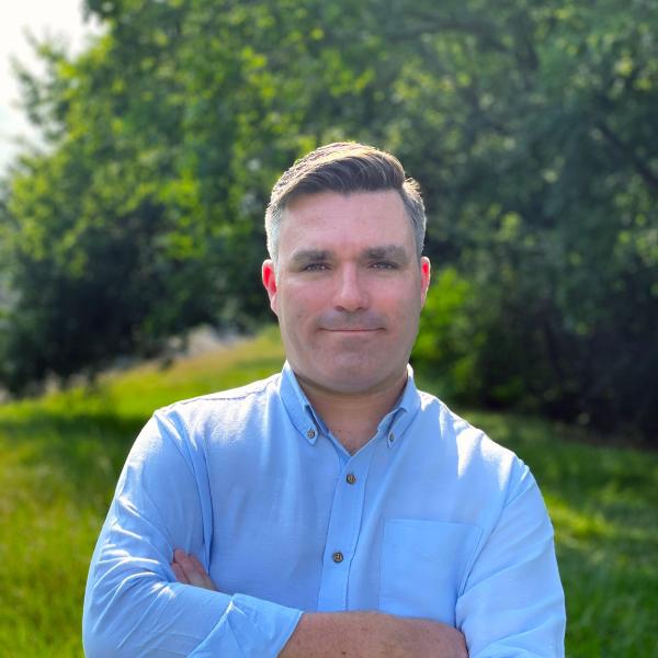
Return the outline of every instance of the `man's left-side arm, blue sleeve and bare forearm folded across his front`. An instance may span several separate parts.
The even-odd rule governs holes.
[[[211,534],[212,496],[204,488],[207,478],[195,476],[204,467],[195,458],[158,416],[133,447],[90,567],[82,624],[87,656],[466,655],[462,634],[435,622],[377,612],[304,613],[212,591],[203,567],[180,552],[172,566],[175,546],[208,564],[208,555],[197,552]]]

